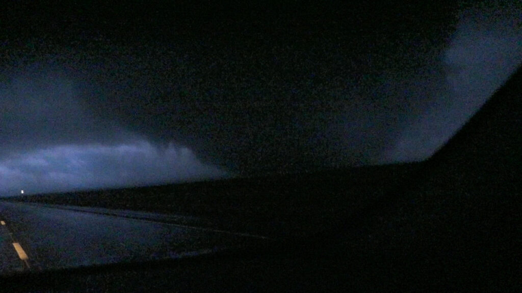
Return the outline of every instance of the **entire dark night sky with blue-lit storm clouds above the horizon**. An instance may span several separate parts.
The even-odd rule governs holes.
[[[420,161],[522,62],[522,2],[8,2],[0,196]]]

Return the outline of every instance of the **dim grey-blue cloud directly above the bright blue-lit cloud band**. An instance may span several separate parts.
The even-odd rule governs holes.
[[[88,111],[75,81],[56,68],[26,68],[0,84],[0,154],[130,136]]]

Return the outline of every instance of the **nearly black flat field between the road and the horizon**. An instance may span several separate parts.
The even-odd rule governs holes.
[[[198,216],[214,228],[272,237],[335,225],[398,187],[420,164],[328,170],[152,187],[37,194],[9,201]]]

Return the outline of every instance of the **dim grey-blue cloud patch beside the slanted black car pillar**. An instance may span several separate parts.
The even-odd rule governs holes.
[[[477,5],[461,11],[441,57],[445,87],[411,120],[384,161],[419,161],[433,154],[522,64],[522,10]]]

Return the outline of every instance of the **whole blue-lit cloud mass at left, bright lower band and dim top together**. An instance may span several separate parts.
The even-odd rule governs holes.
[[[184,146],[151,144],[110,116],[57,66],[18,69],[0,88],[0,194],[137,186],[223,177]],[[73,77],[71,77],[73,76]],[[87,80],[88,82],[88,80]],[[90,99],[89,99],[90,98]],[[98,97],[99,99],[99,97]]]

